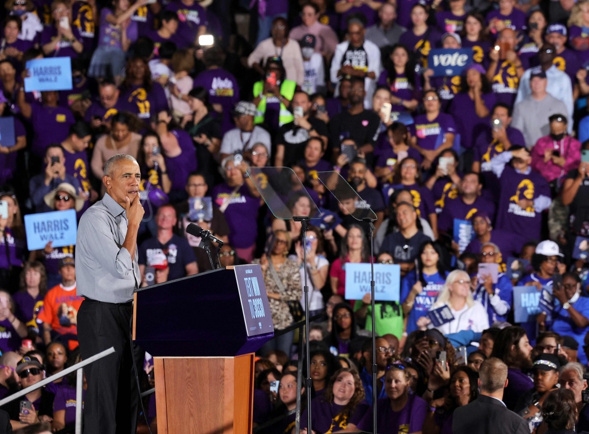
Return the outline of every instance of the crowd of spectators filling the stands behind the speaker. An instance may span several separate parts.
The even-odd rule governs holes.
[[[482,396],[528,430],[589,430],[588,0],[9,0],[2,17],[0,395],[79,359],[76,246],[29,249],[24,216],[79,220],[105,163],[128,154],[140,286],[211,269],[190,223],[224,241],[221,266],[260,264],[277,335],[256,363],[262,432],[290,433],[293,415],[267,421],[297,389],[313,397],[309,432],[371,430],[377,406],[382,432],[445,434]],[[438,48],[472,62],[440,75]],[[27,62],[52,57],[71,58],[72,88],[25,88]],[[338,201],[328,171],[355,193]],[[311,218],[305,243],[268,186]],[[368,208],[374,257],[355,218]],[[346,296],[346,265],[370,261],[401,273],[386,289],[398,302],[376,312],[370,294]],[[310,390],[293,360],[303,337],[284,333],[305,285],[308,314],[324,314]],[[149,356],[141,375],[153,385]],[[74,385],[30,393],[9,423],[70,425]]]

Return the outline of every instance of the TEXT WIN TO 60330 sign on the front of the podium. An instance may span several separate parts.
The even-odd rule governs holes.
[[[273,333],[262,268],[259,264],[237,265],[233,268],[239,287],[241,310],[246,320],[247,336]]]

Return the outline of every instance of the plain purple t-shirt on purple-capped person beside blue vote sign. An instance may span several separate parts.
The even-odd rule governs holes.
[[[483,94],[482,101],[485,107],[493,110],[497,98],[495,94]],[[471,100],[468,93],[459,93],[452,100],[450,105],[450,114],[454,116],[456,128],[460,134],[460,145],[463,148],[470,149],[475,145],[475,140],[481,132],[482,127],[489,125],[489,117],[480,118],[475,110],[475,102]]]

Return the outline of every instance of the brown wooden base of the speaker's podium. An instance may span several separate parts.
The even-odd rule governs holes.
[[[251,433],[254,354],[154,357],[158,434]]]

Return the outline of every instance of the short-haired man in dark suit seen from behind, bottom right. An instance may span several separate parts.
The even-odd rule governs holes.
[[[528,423],[503,403],[507,386],[507,365],[497,357],[481,363],[479,387],[481,393],[468,405],[454,410],[453,434],[530,434]]]

